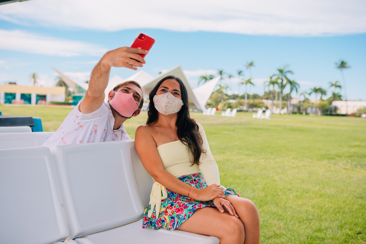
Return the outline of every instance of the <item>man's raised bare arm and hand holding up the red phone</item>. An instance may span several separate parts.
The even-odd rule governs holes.
[[[143,49],[122,47],[105,53],[91,71],[89,88],[81,101],[79,111],[83,114],[89,114],[102,106],[111,67],[126,67],[131,70],[137,70],[137,67],[142,67],[146,63],[145,59],[139,54],[146,54],[147,52]]]

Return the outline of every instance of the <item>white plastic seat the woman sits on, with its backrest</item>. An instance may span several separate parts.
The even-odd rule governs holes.
[[[69,230],[67,240],[79,237],[78,244],[220,243],[216,237],[180,230],[142,229],[140,219],[149,205],[153,180],[133,140],[56,145],[50,150]]]

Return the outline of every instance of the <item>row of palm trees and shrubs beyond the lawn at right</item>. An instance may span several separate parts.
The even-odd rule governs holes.
[[[244,76],[244,71],[243,70],[238,70],[237,71],[237,75],[240,79],[239,82],[239,89],[240,86],[245,85],[245,93],[244,93],[244,97],[243,96],[239,96],[239,95],[227,95],[224,91],[229,89],[228,85],[221,85],[218,84],[218,88],[217,90],[215,90],[213,92],[213,94],[210,97],[208,106],[219,106],[219,104],[221,104],[221,107],[223,106],[223,104],[225,103],[225,98],[226,99],[244,99],[243,101],[243,110],[247,111],[249,107],[247,100],[248,100],[248,88],[250,88],[251,86],[254,86],[253,82],[252,82],[252,76],[251,76],[251,68],[255,67],[254,62],[247,62],[245,65],[246,69],[249,70],[250,73],[250,77],[245,79],[243,78]],[[340,81],[334,81],[334,82],[329,82],[329,92],[332,92],[332,95],[327,99],[329,101],[329,104],[327,103],[320,103],[323,100],[323,96],[325,96],[327,94],[327,90],[325,88],[322,87],[318,87],[318,85],[316,85],[314,88],[311,88],[308,91],[300,91],[300,85],[298,82],[296,82],[295,80],[291,79],[289,77],[289,75],[294,74],[294,72],[292,70],[288,69],[288,66],[283,66],[279,69],[277,69],[276,73],[271,75],[269,77],[269,79],[267,81],[264,82],[264,95],[263,96],[259,96],[257,95],[256,97],[261,97],[262,99],[268,99],[268,100],[272,100],[272,106],[268,106],[271,109],[271,112],[273,113],[273,110],[275,108],[275,103],[276,105],[279,105],[279,109],[280,111],[282,110],[283,107],[283,100],[286,101],[285,106],[287,106],[287,113],[291,113],[292,109],[291,109],[291,96],[292,94],[295,92],[296,95],[300,92],[300,104],[299,104],[299,110],[303,111],[303,113],[305,114],[306,108],[313,105],[310,103],[310,99],[309,96],[310,95],[315,95],[315,105],[314,107],[317,109],[318,114],[320,114],[322,112],[322,109],[325,108],[326,106],[329,107],[329,105],[331,104],[332,101],[335,100],[342,100],[343,96],[341,95],[341,91],[344,87],[344,99],[346,101],[346,106],[347,106],[347,91],[346,91],[346,80],[344,79],[344,73],[343,70],[344,69],[348,69],[350,68],[350,66],[348,65],[348,63],[343,60],[340,59],[339,61],[335,62],[335,68],[339,69],[341,72],[341,77],[343,80],[343,84],[344,86],[340,85]],[[234,77],[234,75],[232,74],[227,74],[225,73],[224,70],[218,70],[217,74],[220,75],[220,80],[223,80],[224,77],[226,76],[227,80],[231,83],[231,78]],[[214,75],[202,75],[201,77],[199,77],[199,81],[198,84],[200,84],[201,82],[204,84],[205,82],[212,80],[214,78]],[[284,90],[285,88],[289,88],[289,92],[287,94],[284,94]],[[303,97],[303,99],[301,99],[301,97]],[[320,98],[320,102],[318,101],[318,97]],[[221,100],[221,101],[220,101]],[[239,103],[240,105],[241,103]],[[261,106],[262,103],[258,102],[257,104],[258,106]],[[224,105],[224,107],[229,106],[227,103],[226,105]],[[335,113],[334,107],[333,107],[333,114]]]

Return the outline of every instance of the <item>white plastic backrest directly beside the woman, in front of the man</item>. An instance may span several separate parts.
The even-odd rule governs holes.
[[[143,168],[133,140],[50,149],[68,240],[142,218],[153,180]]]

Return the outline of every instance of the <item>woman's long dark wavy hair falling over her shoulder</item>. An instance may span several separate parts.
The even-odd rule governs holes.
[[[146,124],[154,124],[158,121],[159,114],[155,108],[153,98],[156,95],[156,92],[159,89],[161,83],[168,79],[173,79],[179,82],[180,94],[183,101],[183,106],[178,112],[178,119],[176,122],[178,138],[183,144],[188,146],[192,165],[199,164],[199,158],[201,157],[201,153],[206,153],[206,150],[203,150],[202,148],[203,140],[201,134],[199,134],[198,125],[196,121],[192,119],[189,115],[188,92],[186,86],[178,77],[175,77],[173,75],[168,75],[167,77],[164,77],[155,85],[154,89],[150,92],[150,103],[147,111]]]

